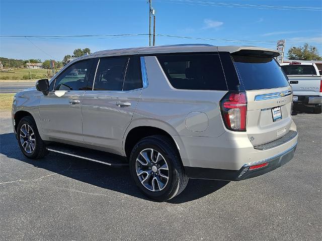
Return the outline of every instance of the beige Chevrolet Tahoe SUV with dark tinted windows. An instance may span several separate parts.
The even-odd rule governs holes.
[[[16,94],[19,147],[33,159],[52,151],[129,166],[139,190],[158,201],[180,194],[189,178],[262,175],[290,161],[297,145],[277,55],[172,45],[80,57]]]

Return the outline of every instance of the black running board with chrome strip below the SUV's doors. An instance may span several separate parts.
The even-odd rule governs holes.
[[[122,167],[129,165],[125,157],[84,147],[53,144],[47,146],[47,150],[92,162],[102,163],[111,167]]]

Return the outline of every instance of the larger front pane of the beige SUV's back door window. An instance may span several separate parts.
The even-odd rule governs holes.
[[[122,90],[128,61],[128,57],[100,59],[94,90]]]

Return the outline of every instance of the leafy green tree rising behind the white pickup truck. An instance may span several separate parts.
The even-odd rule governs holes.
[[[288,50],[287,58],[292,60],[322,60],[315,46],[307,43],[299,47],[291,47]]]

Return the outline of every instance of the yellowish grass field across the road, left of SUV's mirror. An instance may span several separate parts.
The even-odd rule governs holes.
[[[31,78],[32,79],[43,79],[47,78],[47,69],[31,69]],[[29,69],[12,69],[10,73],[0,72],[0,79],[30,79]]]

